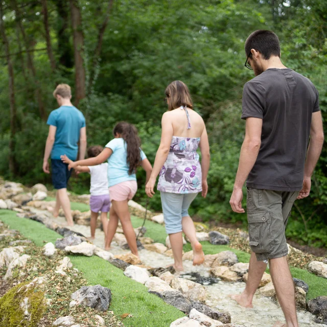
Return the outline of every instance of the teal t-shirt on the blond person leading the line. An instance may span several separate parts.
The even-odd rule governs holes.
[[[69,159],[76,160],[80,130],[85,127],[83,113],[74,106],[61,106],[51,111],[47,124],[57,127],[51,159],[60,159],[65,154]]]

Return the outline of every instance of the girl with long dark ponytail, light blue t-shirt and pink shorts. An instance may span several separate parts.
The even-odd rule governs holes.
[[[68,169],[76,169],[79,165],[96,166],[108,159],[109,194],[112,206],[105,249],[110,248],[120,220],[131,252],[138,255],[135,231],[128,210],[128,200],[132,199],[137,191],[135,175],[137,168],[142,166],[147,173],[148,180],[152,166],[140,148],[141,139],[137,135],[135,126],[125,122],[118,123],[113,129],[113,136],[114,138],[97,157],[71,162]]]

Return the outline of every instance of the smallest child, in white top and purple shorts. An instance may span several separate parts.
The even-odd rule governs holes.
[[[87,149],[87,155],[89,158],[94,158],[103,151],[101,146],[93,146]],[[65,164],[72,164],[74,161],[69,159],[66,155],[61,156],[61,160]],[[108,191],[108,164],[100,164],[97,166],[77,166],[75,170],[79,173],[89,173],[91,175],[91,187],[90,187],[90,209],[91,209],[91,237],[93,241],[95,238],[95,232],[97,227],[98,214],[101,212],[100,218],[103,226],[105,238],[107,237],[108,229],[108,212],[110,209],[110,197]]]

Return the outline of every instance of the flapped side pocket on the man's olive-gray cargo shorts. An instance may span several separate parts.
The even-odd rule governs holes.
[[[248,213],[250,247],[254,253],[270,253],[273,250],[271,214],[269,211]]]

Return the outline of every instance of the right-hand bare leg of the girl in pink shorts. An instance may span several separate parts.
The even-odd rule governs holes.
[[[128,246],[129,246],[131,252],[138,256],[138,250],[137,250],[137,245],[136,245],[136,235],[135,235],[135,231],[132,226],[131,215],[128,210],[127,202],[128,202],[127,200],[112,201],[112,206],[122,223],[124,235],[126,237],[126,240],[127,240],[127,243],[128,243]]]

